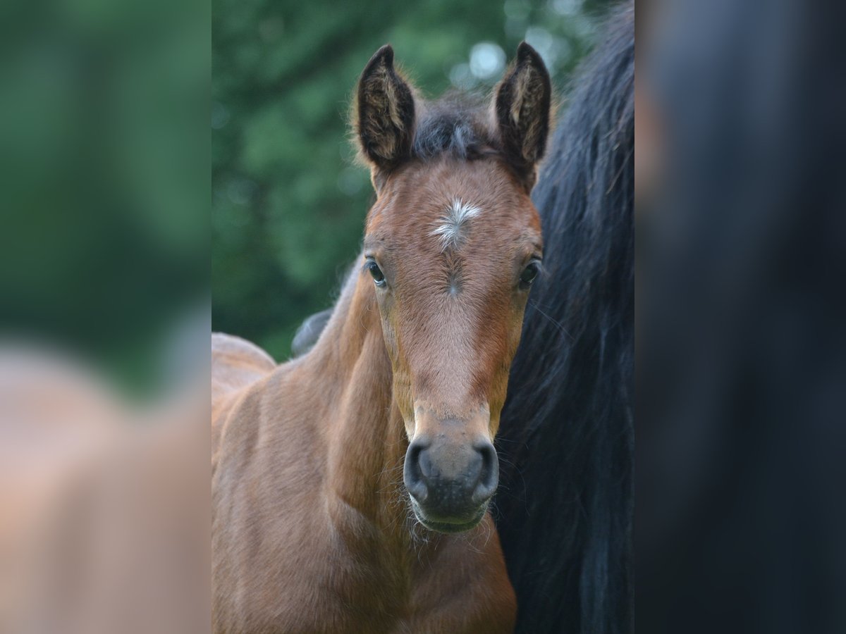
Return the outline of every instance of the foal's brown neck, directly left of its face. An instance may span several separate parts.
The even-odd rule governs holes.
[[[403,462],[408,440],[393,402],[393,374],[372,281],[353,271],[314,351],[335,377],[327,420],[327,494],[343,531],[375,527],[404,538]],[[333,506],[334,505],[334,506]]]

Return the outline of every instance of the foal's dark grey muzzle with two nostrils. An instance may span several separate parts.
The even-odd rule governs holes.
[[[405,454],[406,488],[428,516],[441,521],[475,515],[498,479],[497,452],[486,439],[458,444],[416,438]]]

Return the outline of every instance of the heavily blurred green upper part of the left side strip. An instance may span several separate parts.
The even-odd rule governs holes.
[[[131,391],[175,380],[184,326],[207,327],[210,19],[195,0],[0,7],[3,343]]]

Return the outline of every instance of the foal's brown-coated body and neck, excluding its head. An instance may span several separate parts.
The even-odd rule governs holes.
[[[409,527],[408,440],[367,284],[356,272],[315,349],[276,369],[213,339],[215,632],[514,627],[490,516],[469,534]]]

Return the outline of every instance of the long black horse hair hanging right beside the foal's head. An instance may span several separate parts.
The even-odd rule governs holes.
[[[497,440],[519,632],[632,629],[634,3],[580,69],[534,200],[544,272]]]

